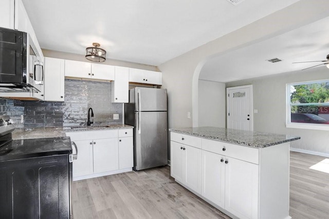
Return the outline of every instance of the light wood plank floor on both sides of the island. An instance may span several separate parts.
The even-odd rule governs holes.
[[[325,157],[290,153],[290,216],[329,218]],[[74,218],[230,218],[174,182],[170,167],[74,182]]]

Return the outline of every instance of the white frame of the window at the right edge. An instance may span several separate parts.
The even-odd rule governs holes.
[[[290,86],[291,85],[307,85],[307,84],[316,84],[316,83],[329,83],[329,79],[321,79],[315,81],[307,81],[307,82],[297,82],[297,83],[287,83],[286,84],[286,128],[295,128],[295,129],[313,129],[313,130],[329,130],[329,124],[308,124],[308,123],[291,123],[291,103],[290,103]],[[305,105],[307,104],[299,104]],[[317,106],[329,104],[319,103]]]

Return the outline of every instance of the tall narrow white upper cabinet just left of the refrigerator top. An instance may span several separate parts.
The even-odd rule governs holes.
[[[129,103],[129,68],[115,67],[115,81],[111,86],[112,103]]]

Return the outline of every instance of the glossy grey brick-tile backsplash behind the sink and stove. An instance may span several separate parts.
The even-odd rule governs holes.
[[[0,98],[0,113],[10,115],[19,128],[86,126],[91,107],[94,126],[122,124],[123,104],[111,103],[111,83],[65,79],[64,97],[64,102]],[[119,120],[113,120],[113,114],[119,114]]]

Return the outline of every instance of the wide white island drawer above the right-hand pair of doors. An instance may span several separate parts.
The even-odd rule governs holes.
[[[258,148],[251,148],[241,145],[233,145],[225,142],[202,139],[202,149],[224,156],[230,156],[242,161],[259,164]]]

